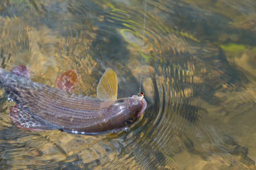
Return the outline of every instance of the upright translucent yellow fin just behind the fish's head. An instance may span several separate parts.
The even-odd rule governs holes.
[[[100,82],[97,87],[97,97],[98,99],[105,101],[117,100],[117,74],[114,70],[108,68],[102,75]]]

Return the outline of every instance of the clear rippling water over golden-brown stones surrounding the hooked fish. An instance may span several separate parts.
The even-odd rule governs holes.
[[[26,65],[32,80],[49,86],[76,70],[75,93],[95,96],[112,67],[119,97],[137,94],[141,75],[149,103],[129,132],[36,132],[11,124],[14,103],[1,90],[1,169],[254,169],[255,7],[253,0],[1,1],[2,68]]]

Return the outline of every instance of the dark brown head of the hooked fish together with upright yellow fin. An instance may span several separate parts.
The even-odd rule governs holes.
[[[117,75],[108,68],[97,86],[97,98],[102,100],[101,110],[104,114],[101,125],[109,129],[129,127],[141,117],[147,107],[144,94],[117,99]]]

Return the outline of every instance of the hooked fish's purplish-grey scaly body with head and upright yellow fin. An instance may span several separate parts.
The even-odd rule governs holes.
[[[117,99],[117,75],[111,68],[98,83],[97,97],[76,95],[1,68],[0,87],[16,102],[10,108],[11,122],[27,130],[115,133],[129,130],[147,108],[144,94]]]

